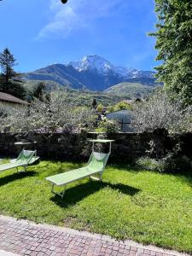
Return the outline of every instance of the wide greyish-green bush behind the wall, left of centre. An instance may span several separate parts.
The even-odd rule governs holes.
[[[5,112],[4,112],[5,113]],[[6,109],[0,116],[2,131],[79,131],[94,124],[94,110],[77,108],[62,94],[51,94],[49,102],[35,99],[30,106]]]

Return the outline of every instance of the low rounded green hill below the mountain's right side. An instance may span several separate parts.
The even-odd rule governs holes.
[[[129,96],[131,98],[147,96],[154,90],[154,86],[144,85],[141,83],[120,83],[104,90],[104,93],[114,96]]]

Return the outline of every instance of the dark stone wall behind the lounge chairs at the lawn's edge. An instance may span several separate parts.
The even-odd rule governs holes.
[[[52,160],[87,160],[90,155],[91,143],[89,138],[96,138],[96,133],[80,134],[0,134],[0,154],[3,156],[15,156],[21,148],[15,146],[15,142],[21,139],[36,141],[36,145],[26,146],[26,149],[36,148],[42,159]],[[182,140],[183,153],[192,157],[192,134],[174,135]],[[109,137],[115,140],[112,146],[111,162],[130,162],[137,157],[146,155],[152,139],[150,133],[118,133]],[[102,148],[108,151],[107,146]]]

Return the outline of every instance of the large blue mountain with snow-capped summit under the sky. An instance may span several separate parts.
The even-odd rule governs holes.
[[[99,55],[84,56],[80,61],[52,64],[26,73],[26,79],[50,80],[74,89],[107,90],[122,82],[154,86],[154,72],[116,67]]]

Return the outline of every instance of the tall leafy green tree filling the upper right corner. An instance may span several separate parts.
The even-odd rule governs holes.
[[[157,78],[164,89],[192,104],[192,4],[190,0],[155,0],[158,15],[155,48],[161,61]]]

